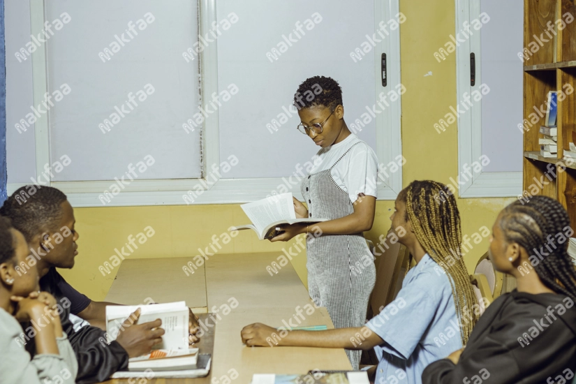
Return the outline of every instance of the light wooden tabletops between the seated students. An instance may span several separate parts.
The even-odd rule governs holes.
[[[266,266],[276,260],[277,256],[277,253],[216,254],[206,260],[203,269],[204,295],[209,312],[213,312],[209,314],[211,320],[208,322],[216,323],[217,327],[211,373],[203,379],[157,378],[148,381],[147,384],[227,383],[226,377],[231,379],[234,373],[234,376],[238,377],[232,381],[233,383],[247,384],[250,383],[253,374],[306,374],[311,369],[351,369],[346,353],[341,348],[254,348],[242,344],[240,330],[256,322],[279,327],[283,325],[283,320],[286,323],[291,321],[292,324],[300,321],[298,325],[334,327],[326,309],[313,306],[306,288],[291,264],[282,267],[272,276],[267,272]],[[175,272],[175,268],[161,267],[162,263],[158,263],[157,260],[163,260],[165,266],[179,265],[179,272]],[[115,281],[116,285],[112,285],[115,292],[110,289],[112,297],[122,304],[129,304],[128,300],[143,300],[143,293],[134,292],[136,288],[132,288],[142,288],[142,275],[138,273],[145,276],[156,274],[154,284],[150,284],[154,295],[150,297],[158,302],[186,300],[186,304],[189,304],[189,300],[196,300],[190,295],[200,295],[201,292],[201,284],[198,283],[200,276],[195,276],[200,275],[200,269],[195,274],[186,276],[182,271],[184,260],[188,261],[186,258],[124,260]],[[138,262],[138,272],[123,271],[124,267],[133,265],[126,263],[128,261]],[[163,272],[159,272],[160,270]],[[174,274],[182,274],[186,279]],[[131,276],[128,278],[131,280],[120,281],[125,279],[125,276]],[[193,282],[195,279],[198,281]],[[191,286],[195,287],[195,291],[186,292],[192,289],[189,288]],[[168,297],[170,300],[163,300]],[[110,293],[106,300],[109,298]],[[214,313],[215,311],[218,312]],[[223,314],[224,311],[229,313]],[[204,325],[205,330],[210,330],[209,324]],[[108,383],[128,382],[128,380],[108,381]]]

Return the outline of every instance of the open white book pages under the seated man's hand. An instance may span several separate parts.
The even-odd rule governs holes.
[[[149,305],[108,305],[106,306],[106,336],[108,343],[114,341],[121,330],[122,323],[136,309],[140,308],[137,324],[162,320],[164,334],[162,341],[152,349],[189,350],[189,314],[186,302],[171,302]]]

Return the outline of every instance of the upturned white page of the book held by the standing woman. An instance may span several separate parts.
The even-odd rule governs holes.
[[[296,219],[292,193],[265,198],[242,205],[242,210],[249,217],[258,233],[276,221]]]

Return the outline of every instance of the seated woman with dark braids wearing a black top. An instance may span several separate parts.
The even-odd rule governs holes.
[[[492,228],[489,257],[515,276],[517,290],[482,315],[464,350],[427,367],[436,383],[571,383],[576,374],[576,269],[568,256],[568,212],[535,196],[505,207]]]

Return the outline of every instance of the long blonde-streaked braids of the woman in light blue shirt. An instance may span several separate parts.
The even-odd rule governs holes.
[[[461,258],[462,230],[456,198],[446,190],[438,182],[415,181],[401,191],[399,200],[406,203],[406,221],[410,221],[424,251],[450,276],[462,345],[466,345],[480,313],[471,311],[478,307],[478,298]]]

